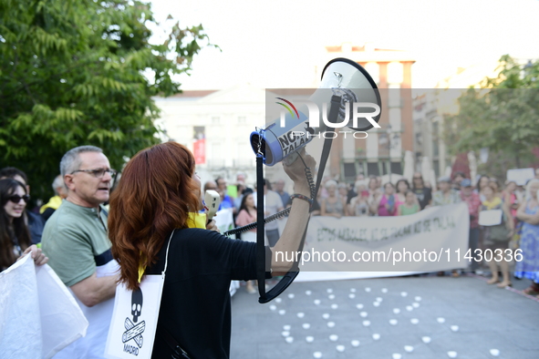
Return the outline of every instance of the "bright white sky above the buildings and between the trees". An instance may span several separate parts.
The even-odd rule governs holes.
[[[366,42],[415,59],[412,87],[434,87],[458,67],[484,68],[510,54],[538,59],[538,0],[151,0],[159,39],[167,15],[202,24],[212,44],[195,56],[182,89],[317,87],[325,46]],[[170,25],[170,24],[169,24]]]

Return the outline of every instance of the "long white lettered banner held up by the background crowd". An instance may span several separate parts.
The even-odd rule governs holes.
[[[298,280],[371,278],[465,268],[469,229],[465,203],[399,217],[313,217],[304,251],[298,254]]]

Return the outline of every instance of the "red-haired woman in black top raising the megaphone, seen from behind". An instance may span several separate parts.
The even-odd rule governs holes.
[[[315,168],[312,157],[304,154],[304,159]],[[163,271],[170,238],[153,358],[171,357],[172,349],[160,334],[167,332],[192,359],[228,358],[230,282],[256,279],[256,243],[231,240],[200,225],[194,228],[196,212],[202,210],[201,180],[194,168],[189,149],[161,143],[130,159],[110,196],[112,255],[119,262],[119,281],[128,289],[139,288],[139,269],[145,274]],[[300,196],[293,201],[280,240],[266,248],[273,275],[292,267],[272,254],[297,250],[309,212],[309,202],[303,200],[310,197],[310,189],[302,161],[285,166],[285,172]]]

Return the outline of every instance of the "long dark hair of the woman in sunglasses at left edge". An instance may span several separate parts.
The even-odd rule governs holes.
[[[30,232],[25,223],[24,213],[18,218],[14,218],[13,222],[9,221],[9,215],[5,212],[5,203],[9,197],[13,196],[17,187],[25,190],[26,187],[18,180],[4,179],[0,180],[0,267],[7,268],[16,262],[14,250],[14,241],[18,241],[21,251],[25,251],[32,241],[30,240]]]

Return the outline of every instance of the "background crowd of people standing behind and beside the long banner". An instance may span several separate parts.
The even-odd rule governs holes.
[[[238,197],[230,200],[235,204],[226,208],[233,210],[235,224],[240,227],[256,221],[256,205],[255,193],[246,188],[244,174],[238,176],[241,176],[237,182]],[[223,179],[217,179],[216,182],[219,180]],[[405,216],[433,206],[465,202],[470,215],[469,248],[474,258],[469,270],[482,272],[484,256],[481,253],[485,250],[494,253],[496,250],[503,252],[520,248],[523,251],[523,261],[515,263],[513,275],[532,280],[525,293],[539,294],[539,169],[536,170],[535,179],[529,180],[526,186],[506,181],[501,188],[499,180],[486,175],[480,176],[476,182],[472,185],[472,180],[466,178],[462,172],[456,172],[451,177],[442,176],[434,186],[423,180],[420,172],[413,174],[411,185],[405,179],[397,180],[395,185],[391,182],[382,183],[377,176],[365,178],[358,175],[355,183],[339,182],[327,177],[322,181],[318,196],[311,207],[311,215],[337,219]],[[216,183],[212,181],[207,185],[216,187]],[[279,204],[287,207],[291,203],[290,196],[285,191],[285,181],[275,180],[273,185],[275,191],[271,190],[271,184],[267,180],[264,184],[265,198],[277,202],[272,211],[267,211],[266,208],[266,216],[281,210]],[[225,188],[222,187],[219,191],[222,198],[227,196]],[[282,203],[278,203],[278,197]],[[498,225],[480,226],[480,212],[487,210],[499,210],[502,214]],[[255,241],[255,230],[243,233],[242,236],[246,241]],[[491,259],[491,256],[487,257]],[[487,283],[497,284],[500,288],[512,285],[511,262],[506,261],[507,258],[509,257],[501,256],[492,258],[491,261],[485,259],[485,264],[492,273]],[[499,273],[502,274],[501,278]],[[443,272],[438,274],[443,275]],[[452,271],[451,275],[457,277],[460,273]],[[254,292],[252,286],[247,290]]]

